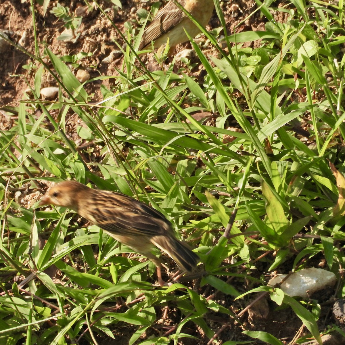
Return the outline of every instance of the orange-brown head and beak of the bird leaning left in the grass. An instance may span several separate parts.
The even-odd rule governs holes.
[[[51,187],[41,199],[39,206],[56,205],[77,210],[78,193],[88,188],[77,181],[63,181]]]

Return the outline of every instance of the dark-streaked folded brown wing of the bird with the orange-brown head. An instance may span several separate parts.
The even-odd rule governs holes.
[[[113,234],[151,237],[173,232],[164,215],[124,194],[99,191],[89,207],[93,209],[93,219],[89,220]]]

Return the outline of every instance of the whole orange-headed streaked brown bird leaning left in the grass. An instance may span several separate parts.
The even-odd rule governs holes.
[[[174,236],[170,222],[151,206],[110,190],[89,188],[77,181],[63,181],[41,199],[39,205],[64,206],[99,226],[111,237],[145,255],[157,266],[159,285],[161,262],[151,253],[158,247],[183,271],[191,271],[199,257]]]

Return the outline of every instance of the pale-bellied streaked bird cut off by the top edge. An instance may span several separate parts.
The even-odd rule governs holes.
[[[214,9],[213,0],[178,0],[178,2],[203,26],[206,27],[211,19]],[[190,37],[195,37],[200,30],[178,8],[174,2],[169,1],[160,9],[154,20],[149,24],[142,34],[139,50],[151,47],[151,41],[155,41],[154,49],[158,48],[157,54],[161,55],[169,38],[169,52],[171,55],[175,46],[188,41],[185,30]]]

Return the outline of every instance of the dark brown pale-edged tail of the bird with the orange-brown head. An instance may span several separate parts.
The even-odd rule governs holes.
[[[200,261],[190,247],[174,237],[154,236],[151,239],[155,246],[167,253],[179,269],[191,272]]]

